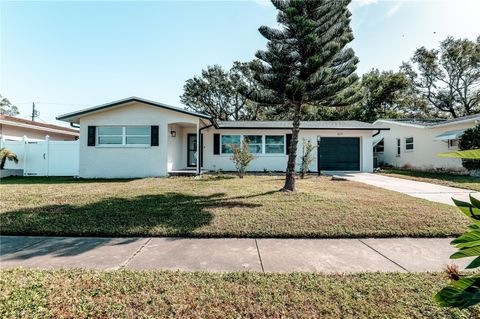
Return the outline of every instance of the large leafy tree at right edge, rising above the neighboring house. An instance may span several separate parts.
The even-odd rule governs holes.
[[[421,47],[402,70],[438,116],[480,112],[480,36],[476,41],[448,37],[438,50]]]

